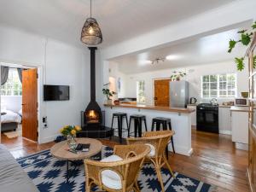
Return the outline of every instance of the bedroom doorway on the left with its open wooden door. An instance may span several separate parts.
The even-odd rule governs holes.
[[[38,142],[38,68],[1,63],[1,143]]]

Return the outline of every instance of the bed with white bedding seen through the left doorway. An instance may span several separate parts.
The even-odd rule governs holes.
[[[10,110],[3,109],[1,111],[1,131],[16,130],[18,124],[21,123],[21,116]]]

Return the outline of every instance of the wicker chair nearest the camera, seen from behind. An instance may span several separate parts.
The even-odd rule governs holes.
[[[147,145],[116,145],[113,155],[101,160],[84,160],[85,191],[93,185],[109,192],[139,192],[137,177],[149,154]]]

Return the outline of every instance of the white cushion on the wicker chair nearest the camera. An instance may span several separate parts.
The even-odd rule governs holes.
[[[119,160],[123,159],[120,158],[119,155],[113,154],[107,158],[102,159],[101,162],[115,162]],[[110,189],[122,189],[121,177],[119,177],[118,173],[113,172],[112,170],[102,171],[102,183]]]

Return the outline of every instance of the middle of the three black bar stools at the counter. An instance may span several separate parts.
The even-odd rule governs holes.
[[[145,130],[148,131],[147,128],[147,122],[146,122],[146,116],[145,115],[140,115],[140,114],[133,114],[130,116],[129,120],[129,126],[128,126],[128,137],[130,137],[130,129],[131,129],[131,121],[134,121],[134,137],[142,137],[143,135],[143,121],[145,125]]]

